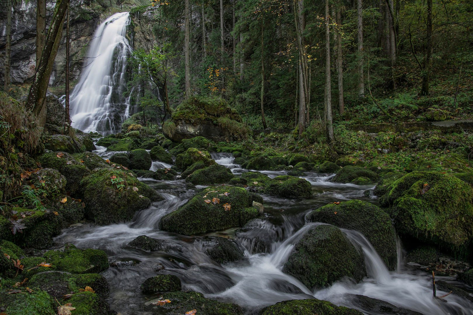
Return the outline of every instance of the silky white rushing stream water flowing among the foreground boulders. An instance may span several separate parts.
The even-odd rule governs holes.
[[[233,164],[229,153],[212,153],[212,158],[236,173],[245,171]],[[281,174],[265,173],[271,176]],[[303,177],[313,187],[314,197],[310,199],[263,195],[265,213],[252,221],[245,231],[237,233],[237,237],[236,229],[209,233],[235,238],[245,252],[245,258],[236,262],[218,264],[212,261],[204,254],[205,247],[200,237],[176,235],[158,229],[159,220],[165,214],[176,210],[193,196],[194,188],[184,180],[142,179],[165,200],[136,213],[131,222],[112,225],[74,224],[64,229],[54,241],[57,247],[73,243],[77,247],[102,249],[108,254],[111,267],[105,272],[105,277],[111,290],[109,303],[123,315],[154,314],[147,305],[149,299],[158,296],[144,295],[139,287],[144,280],[155,276],[163,268],[166,273],[175,274],[181,279],[184,291],[200,291],[207,298],[239,304],[247,314],[279,301],[313,297],[357,308],[351,302],[352,294],[385,300],[425,315],[473,314],[473,304],[464,299],[453,295],[446,298],[448,303],[433,299],[429,274],[408,265],[403,265],[396,272],[389,272],[376,250],[357,231],[342,230],[363,251],[368,272],[363,281],[353,283],[350,279],[342,279],[330,287],[312,292],[297,279],[281,272],[297,241],[307,230],[320,224],[306,223],[307,213],[328,202],[340,200],[356,198],[376,203],[372,196],[364,194],[373,185],[331,183],[328,180],[332,176],[307,173]],[[144,252],[127,246],[140,235],[168,240],[170,249],[166,253]],[[262,244],[255,244],[255,239]],[[259,246],[260,253],[255,253],[255,246]],[[398,253],[402,253],[400,242]],[[453,281],[449,277],[438,278]],[[442,293],[438,291],[438,295]],[[365,311],[365,314],[372,313]]]

